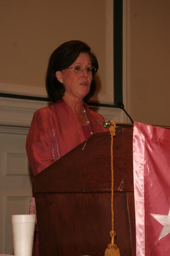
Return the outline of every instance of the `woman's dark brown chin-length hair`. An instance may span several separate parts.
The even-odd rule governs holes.
[[[52,102],[58,101],[63,97],[65,88],[64,85],[56,78],[56,72],[62,71],[74,63],[80,53],[87,53],[90,56],[92,66],[98,70],[98,62],[95,55],[90,51],[90,47],[82,41],[72,40],[60,45],[50,56],[47,74],[46,74],[46,90],[49,100]],[[91,87],[88,95],[84,97],[84,101],[88,101],[93,96],[96,88],[96,81],[93,76]]]

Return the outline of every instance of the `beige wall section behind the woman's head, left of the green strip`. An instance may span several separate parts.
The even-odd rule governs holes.
[[[83,40],[97,55],[104,84],[105,33],[105,0],[1,0],[0,82],[44,87],[52,51],[64,41]]]

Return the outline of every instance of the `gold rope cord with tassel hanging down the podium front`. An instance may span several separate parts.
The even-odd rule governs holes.
[[[111,189],[111,212],[112,212],[112,231],[110,231],[111,243],[108,244],[105,250],[105,256],[120,256],[120,251],[116,243],[114,243],[114,237],[116,232],[114,231],[114,171],[113,171],[113,137],[116,135],[116,123],[115,121],[105,120],[104,127],[109,128],[111,135],[111,173],[112,173],[112,189]]]

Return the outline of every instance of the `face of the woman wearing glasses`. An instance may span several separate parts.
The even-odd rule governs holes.
[[[56,72],[57,80],[62,82],[65,87],[64,97],[68,96],[72,100],[77,100],[83,99],[89,93],[93,76],[88,74],[85,68],[91,65],[90,56],[80,53],[70,67],[82,66],[84,68],[82,74],[76,74],[73,68]]]

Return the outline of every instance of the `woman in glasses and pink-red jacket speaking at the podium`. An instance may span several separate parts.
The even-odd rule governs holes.
[[[46,90],[54,103],[34,113],[26,139],[33,175],[93,134],[107,131],[102,125],[104,118],[85,103],[94,94],[97,70],[96,57],[82,41],[65,42],[51,54]],[[30,213],[35,212],[32,198]]]

